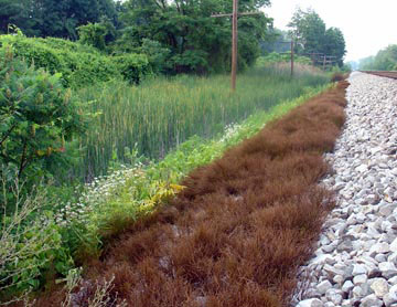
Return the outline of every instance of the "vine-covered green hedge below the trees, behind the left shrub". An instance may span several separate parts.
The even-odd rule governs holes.
[[[109,56],[95,47],[61,39],[0,35],[0,44],[12,44],[15,55],[35,67],[62,73],[64,85],[74,88],[115,78],[139,83],[152,71],[143,54]]]

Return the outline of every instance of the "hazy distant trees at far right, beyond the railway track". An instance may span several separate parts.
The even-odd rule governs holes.
[[[365,71],[395,71],[397,70],[397,45],[389,45],[380,50],[376,56],[360,61],[360,70]]]

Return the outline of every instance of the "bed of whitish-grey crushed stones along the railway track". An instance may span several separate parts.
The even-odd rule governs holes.
[[[397,307],[397,81],[353,73],[334,172],[322,184],[337,207],[292,306]]]

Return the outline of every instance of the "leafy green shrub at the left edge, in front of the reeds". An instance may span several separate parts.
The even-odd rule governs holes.
[[[63,159],[85,116],[58,74],[29,67],[9,45],[0,49],[0,162],[34,181]]]

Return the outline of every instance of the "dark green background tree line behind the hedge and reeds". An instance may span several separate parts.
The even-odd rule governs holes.
[[[240,11],[267,6],[270,0],[239,1]],[[229,70],[232,27],[228,18],[211,14],[232,10],[230,0],[0,0],[0,33],[15,24],[28,36],[79,40],[108,54],[144,53],[160,73],[219,73]],[[332,55],[342,66],[340,29],[326,29],[315,11],[300,9],[289,27],[296,52]],[[265,14],[239,18],[238,31],[239,70],[273,51],[269,42],[285,39]]]

